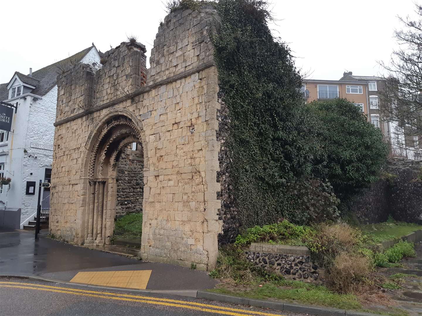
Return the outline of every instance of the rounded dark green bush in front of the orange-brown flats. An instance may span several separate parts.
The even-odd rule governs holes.
[[[334,99],[311,102],[306,109],[321,142],[315,159],[317,177],[327,179],[335,194],[345,199],[379,179],[388,148],[381,130],[359,107]]]

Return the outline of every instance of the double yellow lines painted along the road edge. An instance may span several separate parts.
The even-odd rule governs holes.
[[[160,298],[160,297],[119,294],[119,293],[111,293],[111,292],[99,292],[99,291],[90,291],[90,290],[84,290],[84,289],[72,289],[68,287],[53,287],[49,285],[24,283],[24,282],[0,281],[0,287],[13,287],[13,288],[18,288],[18,289],[33,289],[33,290],[35,289],[38,291],[106,298],[108,300],[120,300],[120,301],[128,301],[128,302],[139,302],[139,303],[147,303],[147,304],[154,304],[154,305],[172,306],[172,307],[177,307],[177,308],[187,308],[190,310],[203,311],[203,312],[208,312],[208,313],[218,313],[218,314],[223,314],[223,315],[280,316],[280,314],[271,314],[271,313],[264,313],[264,312],[258,312],[258,311],[248,311],[248,310],[239,309],[239,308],[230,308],[230,307],[223,307],[223,306],[218,306],[218,305],[203,304],[203,303],[196,303],[196,302],[188,302],[188,301],[182,301],[182,300],[171,300],[171,299]]]

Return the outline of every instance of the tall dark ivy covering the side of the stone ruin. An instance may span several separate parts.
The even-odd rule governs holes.
[[[302,79],[289,47],[271,35],[267,7],[260,0],[216,6],[219,95],[230,115],[222,149],[230,208],[249,227],[335,219],[338,199],[312,175],[316,147],[303,116]]]

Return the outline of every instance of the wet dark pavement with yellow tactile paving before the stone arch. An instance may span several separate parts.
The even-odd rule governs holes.
[[[74,246],[46,238],[48,231],[41,232],[43,237],[37,241],[33,231],[0,233],[0,274],[36,275],[61,281],[70,281],[76,277],[78,283],[91,283],[94,274],[87,272],[96,272],[103,273],[100,277],[106,279],[101,282],[96,279],[97,283],[91,284],[114,283],[112,286],[118,286],[117,283],[120,283],[119,287],[150,290],[210,289],[217,284],[217,281],[211,279],[204,271],[190,270],[179,265],[146,262]],[[105,271],[109,273],[104,273]],[[81,274],[77,276],[78,273]],[[124,278],[127,278],[128,273],[130,276],[126,281]],[[88,278],[89,275],[92,276],[89,281],[81,279],[81,276]],[[135,276],[138,278],[130,280]],[[111,279],[113,277],[114,279]],[[116,279],[117,277],[120,279]],[[126,284],[122,286],[125,281]],[[135,286],[135,283],[138,283],[138,286]],[[144,285],[141,286],[141,283]]]

